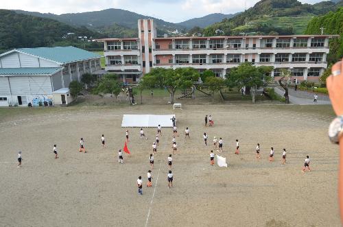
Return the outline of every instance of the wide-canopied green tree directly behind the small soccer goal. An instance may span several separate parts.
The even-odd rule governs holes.
[[[174,104],[174,95],[177,88],[190,88],[199,80],[199,73],[191,67],[178,69],[154,68],[143,77],[143,83],[149,88],[159,86],[167,88],[170,94],[170,102]]]

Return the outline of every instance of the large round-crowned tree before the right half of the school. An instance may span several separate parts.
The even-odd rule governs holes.
[[[230,73],[226,74],[226,85],[230,88],[252,88],[252,102],[255,103],[255,91],[267,86],[272,80],[270,73],[273,67],[255,67],[250,62],[244,62],[239,67],[234,67]]]

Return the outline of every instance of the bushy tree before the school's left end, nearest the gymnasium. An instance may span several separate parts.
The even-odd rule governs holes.
[[[118,75],[114,73],[107,73],[103,75],[102,79],[97,85],[97,93],[111,94],[115,95],[115,98],[118,98],[118,95],[121,93],[122,84],[118,80]]]

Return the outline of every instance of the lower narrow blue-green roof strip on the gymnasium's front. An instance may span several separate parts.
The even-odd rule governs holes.
[[[1,75],[53,75],[62,68],[0,68]]]

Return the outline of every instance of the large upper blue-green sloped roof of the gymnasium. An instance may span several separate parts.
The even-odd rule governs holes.
[[[52,60],[54,62],[60,62],[62,64],[102,57],[96,53],[85,51],[84,49],[79,49],[76,47],[37,47],[19,48],[16,50],[40,58],[45,58],[47,60]]]

